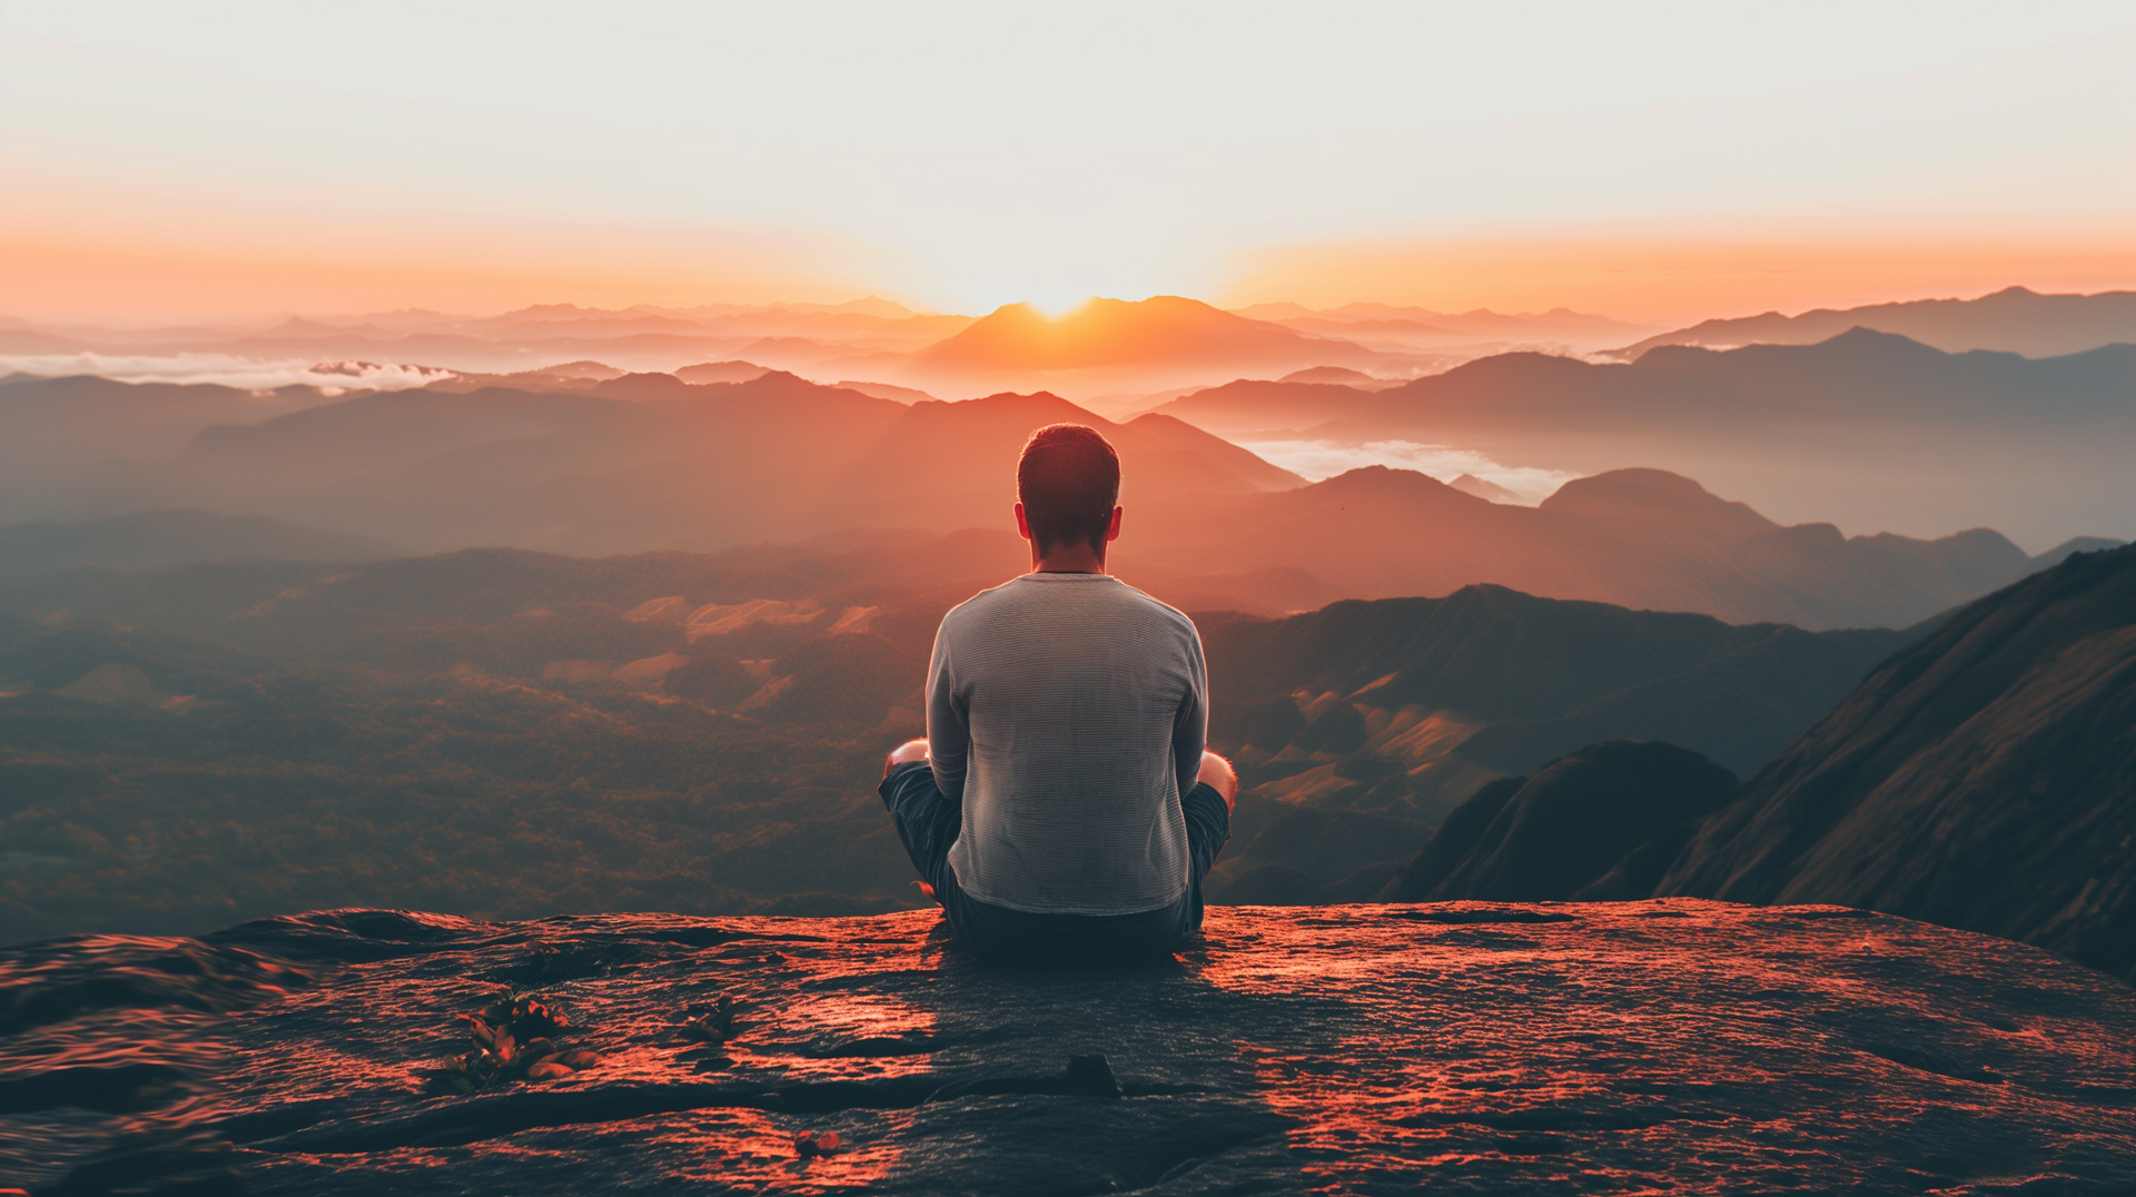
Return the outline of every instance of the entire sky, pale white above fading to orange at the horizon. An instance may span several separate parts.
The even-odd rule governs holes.
[[[0,0],[0,312],[2136,286],[2136,6]]]

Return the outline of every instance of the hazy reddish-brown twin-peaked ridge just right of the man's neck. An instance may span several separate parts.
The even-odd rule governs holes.
[[[1145,417],[1149,419],[1149,417]],[[1412,470],[1367,466],[1243,496],[1228,519],[1160,528],[1179,569],[1303,569],[1365,596],[1489,581],[1527,594],[1805,628],[1905,626],[2031,569],[1991,530],[1937,541],[1779,526],[1664,470],[1566,483],[1540,507],[1489,502]]]

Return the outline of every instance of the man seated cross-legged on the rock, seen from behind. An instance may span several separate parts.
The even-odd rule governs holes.
[[[927,740],[891,752],[882,802],[968,947],[1032,964],[1156,958],[1203,919],[1239,778],[1203,750],[1194,622],[1104,573],[1119,455],[1079,423],[1017,462],[1032,573],[936,633]]]

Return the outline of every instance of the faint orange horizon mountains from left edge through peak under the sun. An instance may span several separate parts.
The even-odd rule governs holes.
[[[26,363],[70,357],[160,359],[160,370],[205,370],[199,359],[359,359],[421,363],[468,374],[523,374],[555,361],[600,359],[626,370],[677,370],[748,359],[816,378],[869,378],[946,387],[1038,385],[1162,389],[1211,376],[1312,366],[1414,374],[1459,357],[1371,351],[1335,333],[1252,321],[1198,299],[1089,299],[1062,318],[1025,304],[987,316],[923,314],[876,301],[859,308],[628,308],[547,304],[498,316],[380,312],[290,316],[261,329],[36,329],[0,327],[0,355]],[[190,355],[188,363],[179,355]],[[32,370],[34,372],[34,370]],[[720,378],[735,380],[735,378]],[[961,391],[970,393],[970,391]]]

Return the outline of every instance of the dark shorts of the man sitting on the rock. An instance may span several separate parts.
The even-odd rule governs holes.
[[[1177,951],[1200,930],[1200,883],[1230,838],[1224,795],[1196,782],[1179,799],[1188,817],[1188,891],[1177,902],[1136,915],[1030,915],[980,902],[957,885],[948,849],[963,829],[963,808],[933,782],[927,761],[891,770],[880,793],[897,823],[897,838],[906,842],[921,881],[933,887],[957,943],[1017,964],[1104,964]]]

